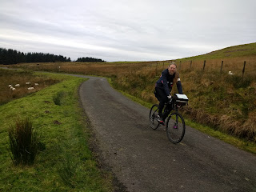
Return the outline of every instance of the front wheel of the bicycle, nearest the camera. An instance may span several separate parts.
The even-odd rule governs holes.
[[[185,122],[181,114],[177,111],[170,114],[166,122],[166,134],[170,142],[178,143],[182,141],[186,130]]]

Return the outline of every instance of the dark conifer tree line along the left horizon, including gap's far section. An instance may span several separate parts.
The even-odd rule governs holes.
[[[62,55],[44,53],[26,53],[18,50],[0,48],[0,64],[10,65],[20,62],[71,62],[70,58]],[[78,58],[76,62],[104,62],[98,58]]]

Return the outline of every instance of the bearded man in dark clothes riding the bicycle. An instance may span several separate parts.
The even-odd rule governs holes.
[[[164,114],[162,114],[162,110],[165,103],[171,98],[170,91],[175,83],[177,85],[178,94],[182,94],[182,83],[177,71],[177,65],[175,62],[171,62],[168,68],[162,71],[161,77],[155,83],[154,94],[159,101],[158,122],[163,125],[165,125],[165,119],[170,113],[170,110],[172,110],[171,105],[166,106]]]

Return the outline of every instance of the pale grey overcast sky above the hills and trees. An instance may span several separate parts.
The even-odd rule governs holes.
[[[107,62],[256,42],[255,0],[0,0],[0,47]]]

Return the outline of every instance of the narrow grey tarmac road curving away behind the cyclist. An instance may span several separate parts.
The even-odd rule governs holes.
[[[102,158],[128,191],[256,191],[255,155],[190,126],[175,145],[163,127],[150,128],[149,109],[111,88],[106,78],[80,77],[90,78],[79,94]]]

